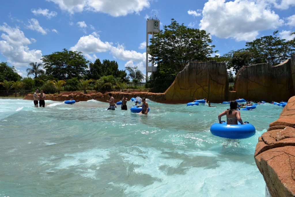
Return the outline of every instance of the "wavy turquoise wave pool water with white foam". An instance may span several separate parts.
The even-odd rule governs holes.
[[[253,154],[279,106],[241,111],[256,134],[230,140],[209,131],[228,104],[148,100],[146,116],[95,100],[45,102],[0,99],[0,196],[265,195]]]

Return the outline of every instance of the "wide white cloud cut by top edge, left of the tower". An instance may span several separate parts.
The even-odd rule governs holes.
[[[139,13],[144,8],[149,7],[149,0],[47,0],[58,4],[60,9],[73,14],[89,10],[92,12],[103,12],[114,17],[126,16],[131,13]]]

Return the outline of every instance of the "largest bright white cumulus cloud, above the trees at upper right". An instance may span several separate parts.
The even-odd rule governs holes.
[[[261,30],[283,24],[265,1],[209,0],[203,8],[200,28],[219,38],[252,41]]]

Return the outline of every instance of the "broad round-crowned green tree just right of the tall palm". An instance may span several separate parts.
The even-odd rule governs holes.
[[[57,51],[50,55],[42,56],[46,74],[51,74],[57,79],[71,79],[86,74],[89,61],[85,59],[82,52]]]

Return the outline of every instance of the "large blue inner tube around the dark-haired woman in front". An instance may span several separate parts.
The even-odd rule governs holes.
[[[255,127],[251,124],[238,123],[237,125],[227,125],[224,123],[214,123],[210,127],[210,131],[214,136],[230,138],[230,139],[245,139],[255,135]]]

